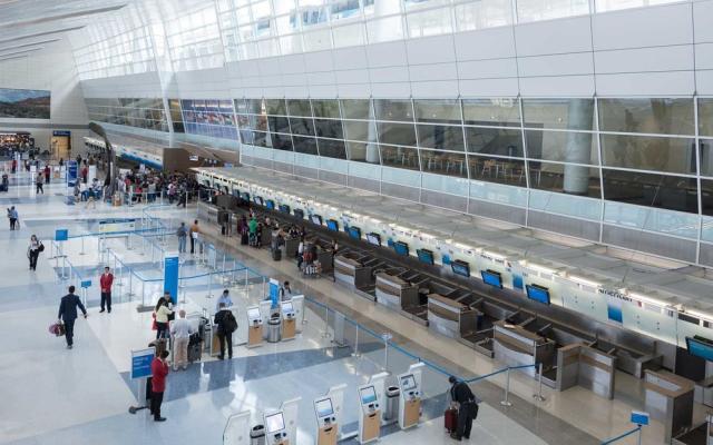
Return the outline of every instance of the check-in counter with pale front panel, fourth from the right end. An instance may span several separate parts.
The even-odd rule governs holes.
[[[451,338],[476,330],[479,313],[456,299],[438,294],[428,296],[428,326]]]

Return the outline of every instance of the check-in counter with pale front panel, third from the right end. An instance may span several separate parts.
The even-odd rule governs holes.
[[[547,364],[553,362],[555,342],[506,320],[494,325],[492,352],[496,360],[507,366]],[[531,376],[535,368],[524,369]]]

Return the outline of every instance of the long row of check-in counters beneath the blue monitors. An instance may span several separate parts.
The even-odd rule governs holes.
[[[199,207],[204,207],[199,209],[204,217],[217,211],[205,202]],[[247,204],[231,211],[240,217],[247,212]],[[468,345],[505,366],[533,365],[524,372],[534,377],[538,372],[535,366],[541,364],[543,384],[557,390],[582,386],[611,399],[614,398],[616,370],[632,374],[645,380],[646,408],[664,419],[668,442],[691,425],[693,386],[688,387],[671,373],[660,372],[660,355],[643,354],[590,337],[475,287],[471,289],[456,280],[451,283],[437,273],[429,273],[428,266],[409,263],[409,259],[390,255],[387,249],[378,250],[375,246],[367,246],[305,219],[264,208],[257,212],[261,219],[268,215],[280,226],[306,225],[305,246],[316,246],[322,274],[332,274],[336,283],[362,297]],[[340,245],[335,255],[331,250],[333,239]],[[263,247],[271,246],[271,230],[263,230]],[[285,239],[283,256],[295,258],[299,244],[299,238]],[[672,387],[677,389],[672,390]]]

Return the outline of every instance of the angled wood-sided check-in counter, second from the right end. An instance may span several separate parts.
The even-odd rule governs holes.
[[[565,390],[582,386],[593,393],[614,398],[616,357],[583,343],[561,346],[557,349],[556,380],[543,378],[548,386]]]

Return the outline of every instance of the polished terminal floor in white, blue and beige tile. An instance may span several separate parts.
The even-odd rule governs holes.
[[[20,211],[21,229],[0,230],[0,335],[9,339],[0,352],[0,444],[222,444],[222,434],[228,416],[248,409],[257,422],[264,409],[276,408],[289,398],[301,397],[297,418],[297,443],[313,444],[315,419],[312,399],[331,386],[346,384],[345,429],[356,422],[355,387],[370,375],[387,367],[390,372],[406,370],[414,360],[391,352],[384,358],[383,346],[367,336],[360,343],[360,356],[351,348],[335,346],[332,336],[323,335],[323,316],[312,305],[305,312],[306,323],[295,340],[264,345],[247,349],[236,346],[233,360],[218,362],[206,357],[186,372],[172,373],[164,412],[166,424],[154,424],[146,412],[127,413],[136,404],[136,385],[128,379],[129,353],[143,348],[152,339],[150,313],[139,313],[141,283],[124,276],[121,291],[115,288],[113,313],[98,313],[98,290],[88,293],[89,318],[80,319],[76,327],[76,347],[64,348],[64,340],[47,332],[56,319],[59,298],[66,283],[58,278],[61,261],[51,260],[49,248],[40,257],[37,271],[29,271],[26,263],[27,245],[31,234],[51,239],[56,228],[68,228],[70,234],[96,231],[101,218],[140,217],[140,207],[113,208],[98,205],[97,209],[67,206],[61,185],[46,187],[47,195],[37,197],[30,187],[12,187],[10,194],[0,195],[6,207],[14,205]],[[173,225],[191,220],[195,210],[162,208],[154,211]],[[139,240],[140,241],[140,240]],[[135,243],[135,241],[131,241]],[[155,261],[147,258],[138,244],[123,239],[107,243],[123,260],[146,276],[159,274]],[[165,248],[175,248],[168,239]],[[289,261],[273,263],[266,251],[240,250],[229,244],[233,256],[251,268],[267,276],[290,278],[294,287],[320,300],[329,301],[349,317],[374,332],[389,330],[394,339],[420,357],[433,360],[459,375],[486,374],[496,365],[448,339],[429,333],[406,318],[377,307],[335,287],[328,280],[302,281]],[[130,249],[129,249],[130,247]],[[66,246],[76,268],[87,277],[97,273],[99,265],[96,239],[81,246],[74,240]],[[81,255],[84,253],[84,255]],[[143,254],[143,255],[141,255]],[[186,271],[196,274],[202,266],[196,258],[183,258]],[[194,261],[194,263],[192,263]],[[160,276],[160,275],[158,275]],[[96,279],[95,279],[96,281]],[[261,298],[262,284],[241,280],[228,286],[238,307]],[[219,290],[223,283],[211,284]],[[196,279],[182,288],[180,299],[191,313],[203,308],[212,312],[217,291],[207,297],[208,283]],[[144,285],[145,287],[145,285]],[[129,291],[133,294],[129,296]],[[158,291],[143,289],[147,299]],[[148,301],[147,301],[148,303]],[[241,338],[240,340],[244,340]],[[240,342],[237,342],[240,343]],[[388,363],[384,363],[388,360]],[[619,376],[617,376],[619,377]],[[628,411],[639,408],[637,382],[627,382],[617,390],[632,392],[622,402],[603,400],[585,390],[566,393],[546,390],[547,402],[533,404],[534,383],[522,376],[512,379],[512,408],[505,409],[498,400],[502,396],[502,379],[475,385],[484,399],[475,425],[471,443],[477,444],[594,444],[629,427]],[[419,428],[398,432],[387,428],[384,444],[447,444],[442,429],[445,376],[429,369],[424,374],[424,422]],[[699,413],[700,414],[700,413]],[[661,444],[661,425],[646,431],[644,443]],[[622,442],[633,443],[633,442]]]

